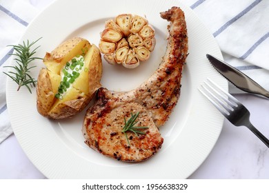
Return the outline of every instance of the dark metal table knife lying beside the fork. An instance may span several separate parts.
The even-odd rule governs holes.
[[[214,68],[237,88],[252,94],[266,96],[269,99],[269,92],[262,88],[257,82],[253,81],[246,74],[243,74],[243,72],[232,67],[232,65],[229,65],[225,61],[221,61],[221,59],[217,59],[210,54],[206,54],[206,57]]]

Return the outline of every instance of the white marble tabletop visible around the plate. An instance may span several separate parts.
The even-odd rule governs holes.
[[[51,1],[30,2],[42,10]],[[250,110],[253,125],[269,137],[269,100],[250,94],[236,97]],[[14,134],[0,144],[0,179],[46,179]],[[212,152],[189,179],[269,179],[269,149],[247,128],[226,120]]]

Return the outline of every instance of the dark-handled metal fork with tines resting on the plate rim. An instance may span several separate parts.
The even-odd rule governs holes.
[[[269,140],[250,123],[250,112],[234,96],[210,79],[199,88],[200,92],[235,126],[246,126],[269,148]]]

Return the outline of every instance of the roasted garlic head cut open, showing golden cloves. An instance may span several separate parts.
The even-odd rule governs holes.
[[[155,30],[144,17],[119,14],[106,21],[99,42],[103,58],[110,64],[136,68],[146,61],[155,48]]]

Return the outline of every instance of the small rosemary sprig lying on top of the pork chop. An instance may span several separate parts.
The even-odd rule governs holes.
[[[140,112],[137,112],[136,114],[132,114],[131,112],[131,117],[130,119],[128,119],[128,121],[126,121],[126,118],[124,117],[124,127],[123,130],[121,130],[121,132],[123,132],[126,136],[126,140],[128,142],[128,145],[130,145],[128,136],[126,134],[126,132],[130,131],[130,132],[134,132],[136,136],[138,136],[138,134],[146,134],[145,132],[141,132],[141,130],[144,129],[148,129],[148,127],[136,127],[135,124],[137,124],[138,121],[137,117],[139,116]]]

